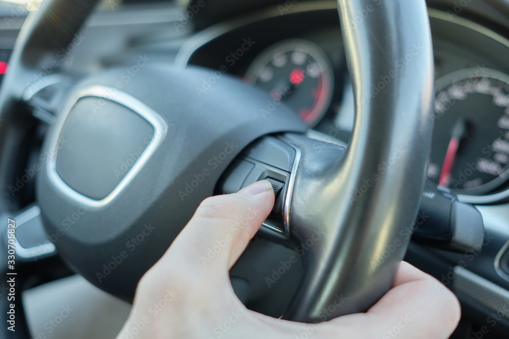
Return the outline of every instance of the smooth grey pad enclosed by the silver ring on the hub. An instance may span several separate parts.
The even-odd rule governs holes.
[[[153,134],[149,122],[129,108],[106,99],[82,98],[70,111],[56,171],[77,193],[104,199],[138,160]]]

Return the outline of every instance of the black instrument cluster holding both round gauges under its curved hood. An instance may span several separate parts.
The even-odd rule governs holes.
[[[428,178],[463,201],[500,201],[509,197],[509,43],[468,20],[429,14],[436,97]],[[286,104],[310,128],[348,143],[354,94],[335,10],[243,21],[193,37],[177,63],[240,77],[273,98],[262,114]],[[415,44],[366,95],[383,91],[421,51]]]

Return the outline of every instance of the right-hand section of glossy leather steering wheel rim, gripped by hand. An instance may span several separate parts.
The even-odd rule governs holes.
[[[433,49],[425,2],[384,2],[376,9],[367,0],[338,0],[337,5],[354,90],[355,126],[346,156],[330,165],[341,168],[330,182],[308,180],[314,166],[305,164],[310,157],[303,155],[302,171],[308,173],[297,179],[295,192],[301,199],[293,201],[292,224],[299,229],[292,235],[301,242],[315,227],[333,240],[324,246],[328,254],[311,249],[303,258],[313,263],[303,263],[307,279],[284,316],[296,321],[323,320],[322,310],[335,305],[337,295],[346,302],[333,307],[334,316],[365,312],[390,289],[410,240],[404,231],[415,220],[431,152]],[[366,10],[369,16],[356,23],[358,13]],[[421,51],[401,67],[417,44]],[[317,199],[317,192],[331,192],[337,200]],[[315,218],[299,213],[324,205],[335,212]],[[334,284],[314,279],[324,274],[335,276]]]

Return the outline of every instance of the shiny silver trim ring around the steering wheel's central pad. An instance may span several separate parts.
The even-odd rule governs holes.
[[[108,196],[101,200],[91,199],[74,191],[62,180],[62,178],[56,172],[56,158],[58,157],[59,140],[61,140],[64,129],[68,123],[69,113],[71,112],[71,109],[74,107],[74,105],[78,102],[78,100],[85,97],[103,98],[121,104],[142,116],[154,128],[154,136],[143,151],[142,155],[140,155],[138,160],[129,169],[117,187],[111,191]],[[167,131],[168,126],[166,121],[164,121],[164,119],[153,109],[138,99],[134,98],[130,94],[127,94],[117,88],[104,85],[92,85],[80,89],[76,91],[76,93],[73,94],[73,96],[67,101],[64,109],[62,110],[62,113],[59,115],[58,120],[56,121],[55,128],[51,135],[49,147],[47,150],[48,161],[46,163],[46,170],[48,172],[48,177],[56,188],[58,188],[63,194],[76,201],[77,203],[89,207],[103,207],[114,200],[115,197],[117,197],[122,192],[122,190],[126,188],[129,182],[132,181],[134,176],[136,176],[136,174],[143,168],[153,153],[161,145]]]

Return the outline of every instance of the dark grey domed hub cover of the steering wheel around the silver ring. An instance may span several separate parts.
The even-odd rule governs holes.
[[[201,201],[213,195],[221,174],[243,148],[261,136],[304,133],[306,127],[284,104],[271,114],[262,114],[271,97],[226,74],[205,88],[204,81],[211,77],[206,69],[177,69],[148,63],[124,79],[125,70],[116,68],[93,75],[79,83],[71,97],[75,99],[76,93],[86,88],[102,86],[109,88],[107,99],[111,101],[130,96],[137,106],[153,110],[164,125],[164,133],[150,151],[150,157],[114,198],[104,199],[100,205],[77,200],[55,184],[58,180],[51,176],[51,162],[39,172],[36,194],[46,232],[56,239],[54,244],[68,264],[101,289],[129,300],[138,280],[166,251]],[[105,114],[116,114],[119,108],[113,106],[104,107],[108,111]],[[128,112],[118,114],[129,116]],[[88,142],[69,141],[69,146],[74,143],[79,146],[75,148],[78,153],[68,154],[73,149],[64,150],[67,147],[64,145],[57,159],[61,156],[65,160],[76,159],[83,169],[60,166],[59,172],[82,194],[99,199],[111,186],[102,191],[90,190],[86,184],[76,184],[79,176],[93,182],[103,180],[94,179],[95,175],[101,177],[109,171],[113,174],[111,166],[115,167],[121,154],[136,152],[140,138],[148,135],[150,128],[142,119],[136,122],[133,135],[134,118],[127,124],[127,131],[119,132],[116,148],[112,145],[117,141],[101,132],[106,125],[111,127],[110,122],[94,125],[93,119],[84,119],[81,128],[108,144],[106,154],[112,159],[105,162],[105,167],[93,169],[95,165],[90,162],[95,161],[93,154],[99,145],[87,150]],[[48,151],[51,140],[62,135],[61,120],[48,133],[43,151]],[[76,133],[82,133],[77,130],[79,126]],[[127,140],[127,135],[134,139]],[[69,136],[70,140],[74,137]],[[78,160],[82,151],[88,155]],[[84,174],[89,170],[95,174]]]

